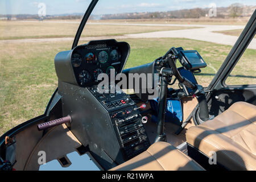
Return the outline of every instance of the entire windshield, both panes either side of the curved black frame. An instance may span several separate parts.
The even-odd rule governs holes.
[[[43,114],[57,88],[54,57],[71,49],[90,2],[0,1],[0,135]],[[125,41],[131,48],[125,68],[150,63],[171,47],[197,50],[208,66],[195,76],[208,86],[255,7],[253,1],[101,0],[78,45]],[[245,60],[256,56],[255,39],[248,48]],[[255,64],[245,67],[256,77]],[[242,69],[236,75],[247,73]]]

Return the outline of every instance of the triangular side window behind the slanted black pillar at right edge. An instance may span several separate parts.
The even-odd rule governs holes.
[[[255,42],[255,38],[251,40],[240,60],[226,78],[226,85],[256,85]]]

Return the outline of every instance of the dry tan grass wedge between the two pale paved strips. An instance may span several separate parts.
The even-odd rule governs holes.
[[[61,21],[60,21],[61,22]],[[0,21],[0,40],[27,38],[65,38],[74,37],[80,22],[54,23],[53,21]],[[110,36],[142,32],[183,30],[195,27],[129,26],[86,24],[85,36]],[[197,27],[198,28],[198,27]]]

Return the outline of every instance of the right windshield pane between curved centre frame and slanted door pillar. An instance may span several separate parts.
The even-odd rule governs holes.
[[[128,42],[131,52],[125,68],[150,63],[171,47],[195,49],[208,65],[202,73],[195,74],[197,82],[208,86],[253,14],[255,5],[250,1],[128,3],[103,0],[94,7],[79,44],[100,39]],[[255,41],[253,39],[249,46],[254,54]],[[178,66],[181,65],[178,63]],[[244,72],[239,75],[242,74]]]

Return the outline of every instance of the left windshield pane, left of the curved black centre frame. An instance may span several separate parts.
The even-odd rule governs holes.
[[[90,1],[0,1],[0,135],[42,115]]]

